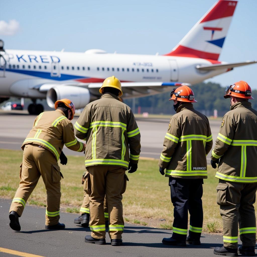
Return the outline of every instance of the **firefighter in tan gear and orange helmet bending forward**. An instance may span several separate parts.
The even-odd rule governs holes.
[[[21,217],[26,202],[34,190],[40,176],[47,190],[47,208],[45,211],[46,229],[63,229],[60,219],[61,177],[58,160],[67,163],[62,152],[65,144],[69,149],[82,152],[85,144],[78,142],[70,122],[75,106],[69,99],[55,102],[55,111],[39,114],[33,127],[22,144],[23,159],[20,166],[20,185],[10,207],[10,227],[20,231]]]

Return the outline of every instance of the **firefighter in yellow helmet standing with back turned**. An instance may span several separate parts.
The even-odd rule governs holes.
[[[89,103],[77,122],[75,135],[87,140],[84,190],[89,194],[91,236],[85,242],[105,244],[104,197],[108,203],[111,245],[122,244],[122,194],[127,176],[137,170],[140,132],[131,109],[119,101],[121,82],[108,77],[99,89],[102,97]]]

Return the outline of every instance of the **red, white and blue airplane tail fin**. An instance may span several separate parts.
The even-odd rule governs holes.
[[[219,0],[166,56],[218,60],[237,1]]]

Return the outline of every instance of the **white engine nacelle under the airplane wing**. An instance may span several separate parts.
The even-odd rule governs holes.
[[[90,102],[90,93],[87,88],[76,86],[55,86],[47,92],[47,104],[54,108],[57,100],[68,98],[74,103],[76,109],[84,108]]]

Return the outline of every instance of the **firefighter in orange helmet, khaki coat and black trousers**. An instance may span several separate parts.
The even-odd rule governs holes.
[[[203,226],[203,179],[207,178],[206,155],[212,148],[212,133],[207,117],[197,112],[197,102],[188,86],[173,89],[169,100],[177,112],[170,119],[159,160],[160,173],[169,177],[174,206],[172,237],[162,243],[176,246],[200,244]],[[190,214],[187,237],[188,211]]]

